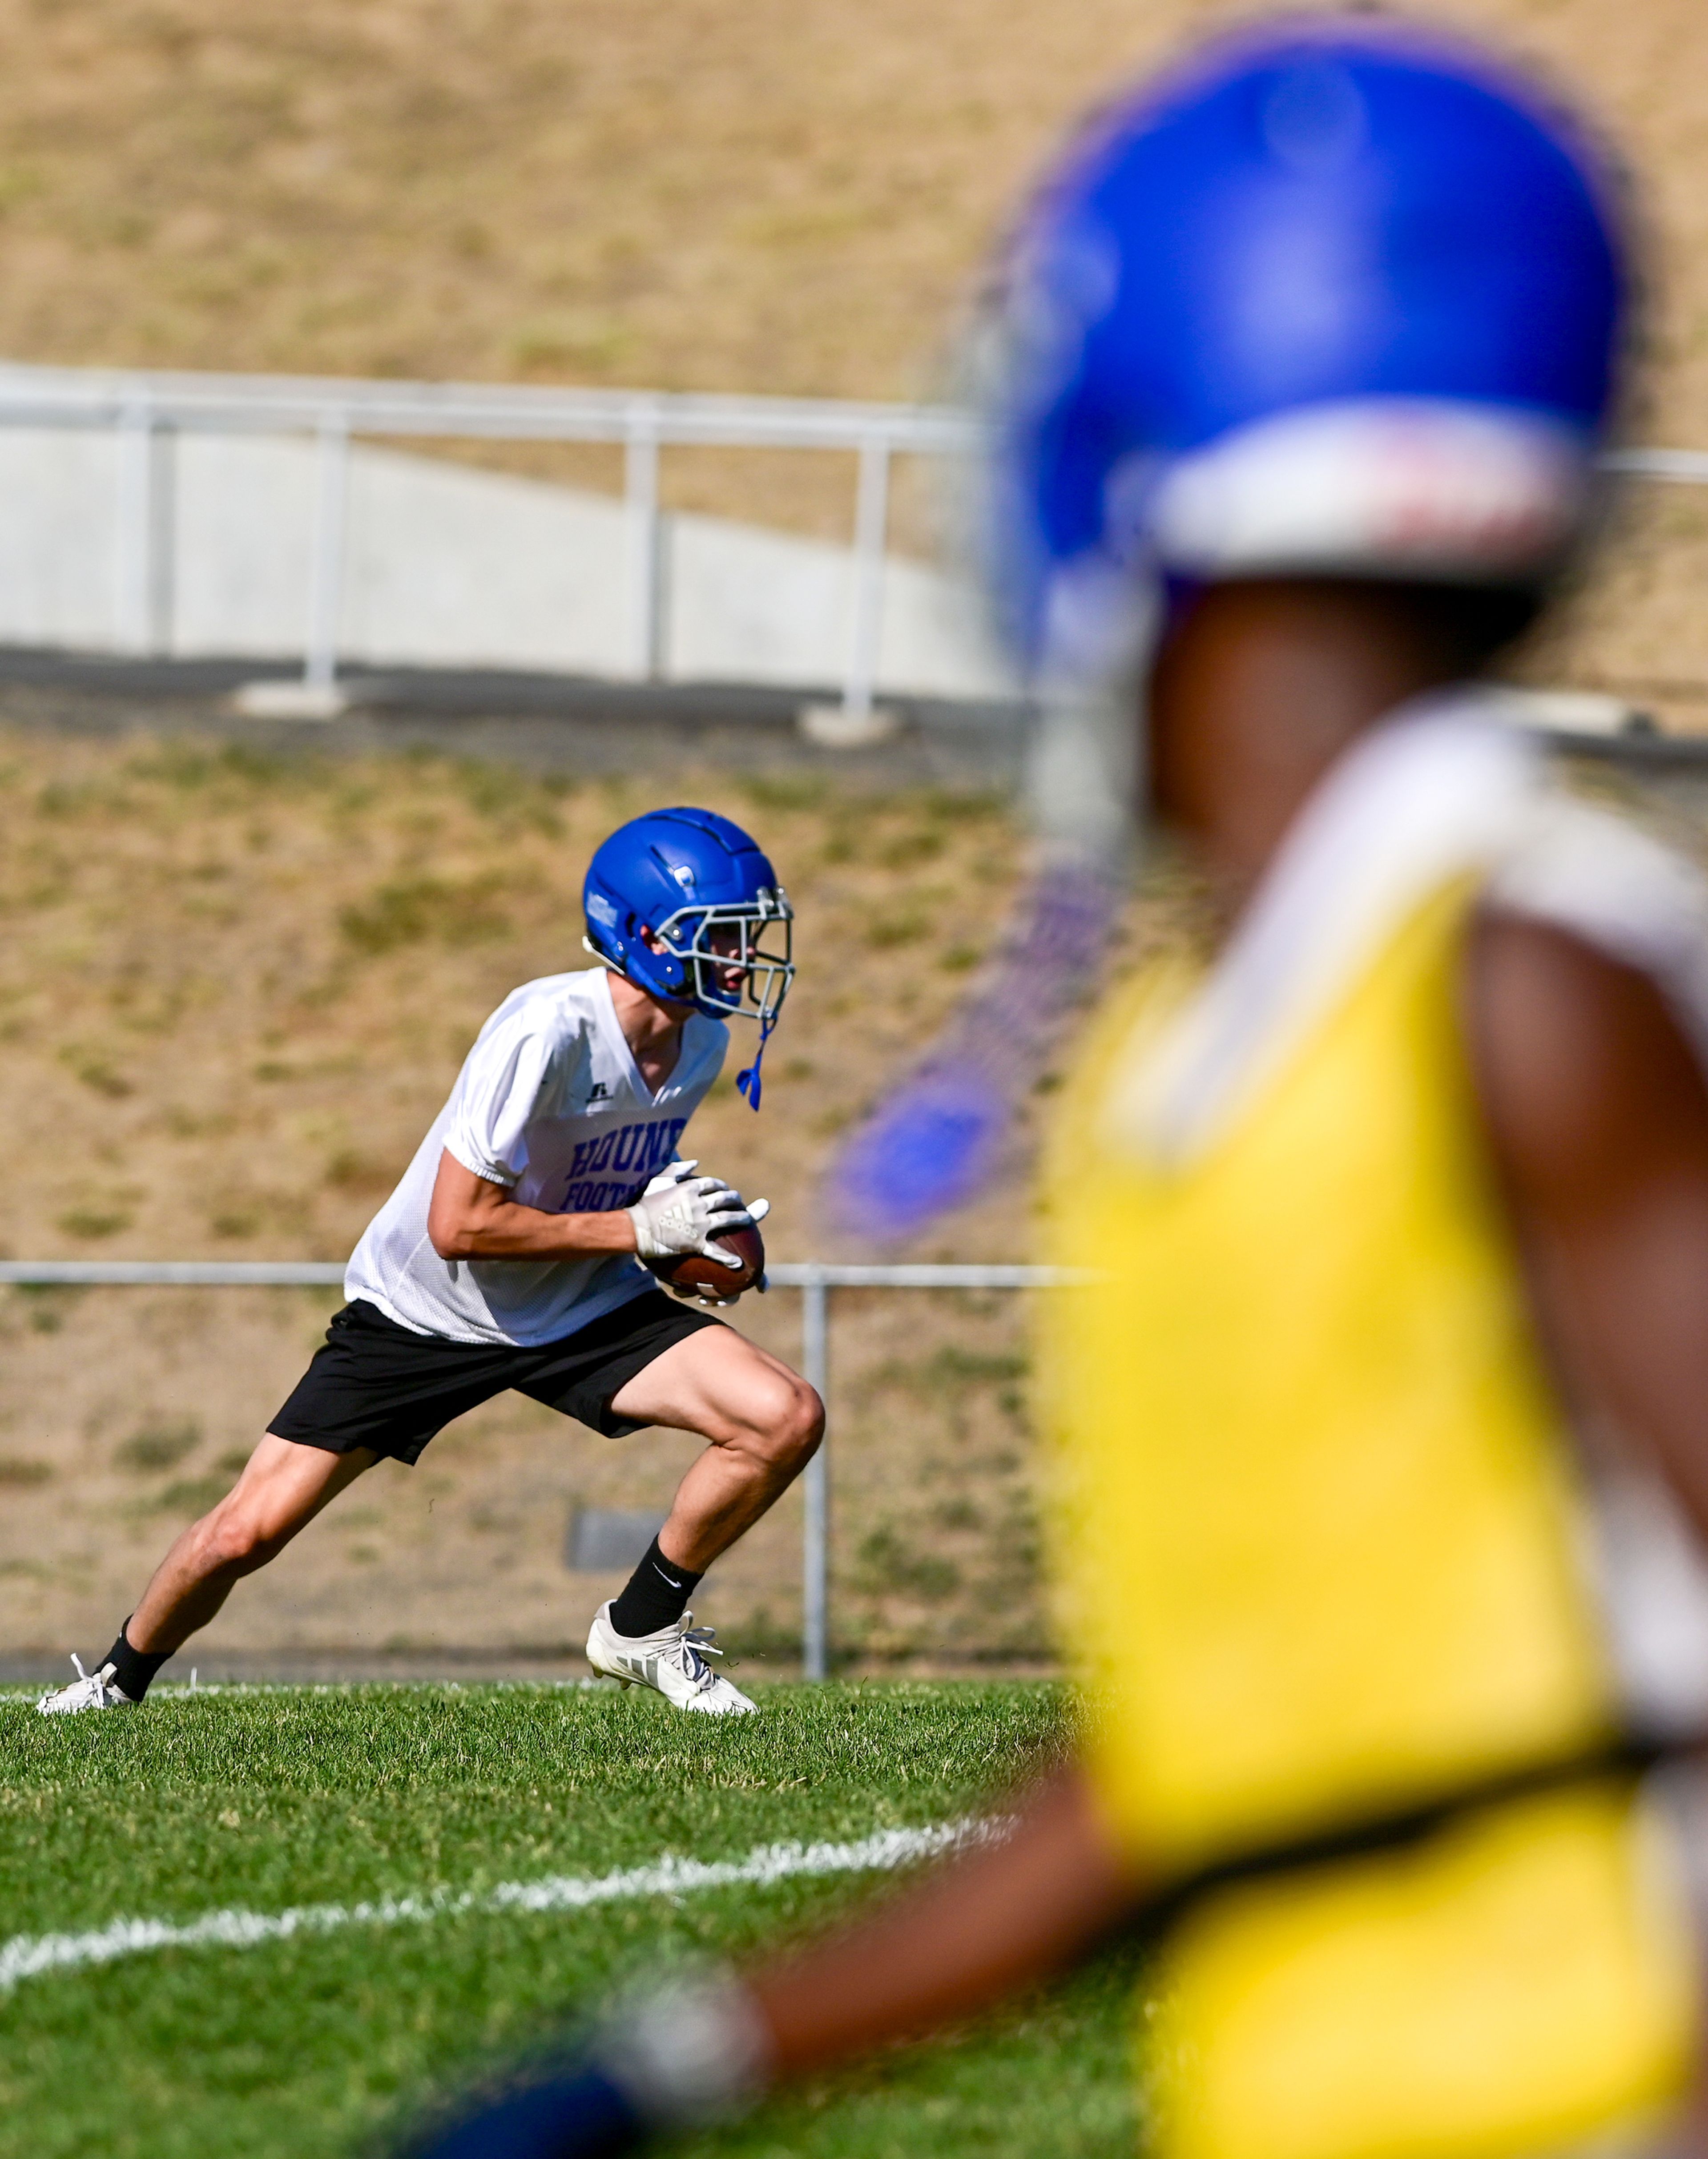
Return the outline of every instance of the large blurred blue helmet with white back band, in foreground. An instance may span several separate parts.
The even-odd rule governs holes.
[[[991,574],[1045,684],[1168,579],[1540,589],[1589,525],[1628,298],[1600,158],[1483,54],[1296,22],[1116,104],[1021,220]]]

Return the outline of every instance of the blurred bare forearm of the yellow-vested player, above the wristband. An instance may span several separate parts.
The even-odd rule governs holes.
[[[1002,1844],[937,1868],[749,1988],[780,2077],[954,2023],[1071,1963],[1138,1902],[1080,1770],[1043,1785]]]

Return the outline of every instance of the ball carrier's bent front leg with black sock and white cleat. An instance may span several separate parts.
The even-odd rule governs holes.
[[[710,1447],[676,1488],[669,1518],[624,1593],[598,1608],[587,1662],[624,1686],[656,1688],[678,1710],[751,1710],[706,1665],[710,1630],[691,1628],[687,1598],[812,1459],[825,1406],[788,1364],[728,1328],[704,1328],[635,1373],[611,1408],[637,1423],[697,1431]]]

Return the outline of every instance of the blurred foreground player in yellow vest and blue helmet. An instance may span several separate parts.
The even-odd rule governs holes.
[[[1164,2159],[1684,2148],[1704,915],[1473,687],[1589,527],[1607,181],[1490,63],[1296,26],[1080,145],[1008,315],[1024,650],[1142,693],[1222,902],[1101,1015],[1052,1177],[1080,1760],[430,2148],[620,2150],[1134,1924]]]

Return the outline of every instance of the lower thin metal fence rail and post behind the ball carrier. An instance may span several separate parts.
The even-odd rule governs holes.
[[[1062,1289],[1080,1274],[1067,1267],[842,1265],[799,1259],[767,1267],[775,1289],[801,1291],[801,1375],[829,1401],[829,1293],[833,1289]],[[45,1289],[177,1287],[177,1289],[335,1289],[335,1259],[6,1259],[0,1285]],[[801,1479],[801,1667],[808,1680],[829,1671],[829,1438]]]

